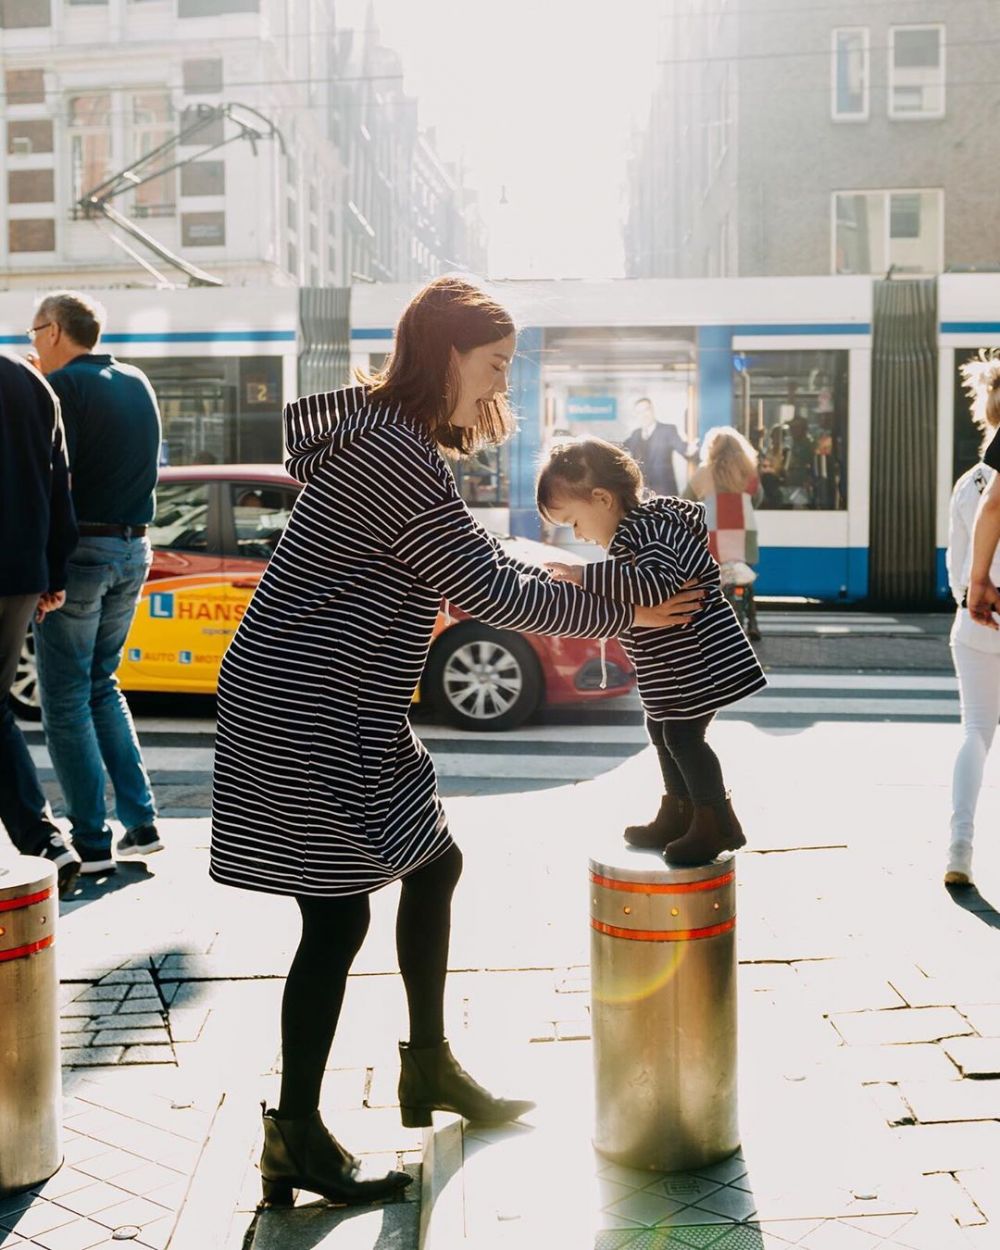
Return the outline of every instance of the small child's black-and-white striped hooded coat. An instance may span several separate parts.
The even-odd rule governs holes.
[[[709,594],[689,625],[621,638],[651,720],[704,716],[768,684],[719,588],[704,505],[672,495],[640,504],[615,530],[608,559],[584,570],[586,590],[625,604],[659,604],[692,578]]]

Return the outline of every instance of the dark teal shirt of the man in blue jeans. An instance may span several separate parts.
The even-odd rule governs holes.
[[[141,369],[88,352],[49,375],[62,404],[80,521],[146,525],[155,510],[160,410]]]

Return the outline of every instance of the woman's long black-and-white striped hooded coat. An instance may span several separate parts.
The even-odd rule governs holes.
[[[362,388],[285,410],[305,489],[222,661],[211,875],[361,894],[451,845],[408,718],[441,596],[501,629],[609,638],[632,609],[509,558],[422,428]]]

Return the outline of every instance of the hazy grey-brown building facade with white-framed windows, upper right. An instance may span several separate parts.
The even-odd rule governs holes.
[[[669,0],[630,276],[1000,265],[995,0]]]

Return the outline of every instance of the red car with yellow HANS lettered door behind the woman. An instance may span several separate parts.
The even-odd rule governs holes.
[[[291,514],[300,486],[280,465],[161,469],[150,526],[152,568],[121,658],[125,690],[214,694],[219,665]],[[572,562],[571,552],[501,539],[520,560]],[[498,630],[454,606],[438,616],[415,699],[462,729],[512,729],[542,705],[625,694],[635,674],[619,642]],[[29,644],[11,691],[38,705]]]

